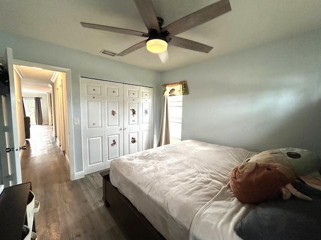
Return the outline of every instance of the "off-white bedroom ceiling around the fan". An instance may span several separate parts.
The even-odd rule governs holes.
[[[163,26],[217,0],[152,0]],[[80,21],[146,32],[133,0],[2,0],[0,29],[86,51],[140,67],[166,71],[321,27],[321,0],[230,0],[232,10],[178,36],[211,45],[209,53],[169,46],[162,63],[144,47],[121,52],[145,39],[84,28]]]

